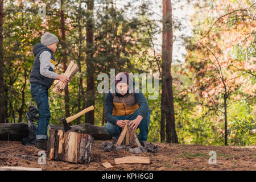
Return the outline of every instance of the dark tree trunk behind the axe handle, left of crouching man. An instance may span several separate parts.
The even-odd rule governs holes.
[[[87,91],[86,91],[86,107],[94,106],[95,104],[95,85],[93,64],[93,7],[94,1],[87,1],[88,19],[86,22],[86,72],[87,72]],[[85,114],[85,122],[94,125],[94,110]]]

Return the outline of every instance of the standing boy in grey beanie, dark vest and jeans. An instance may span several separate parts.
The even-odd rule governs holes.
[[[51,118],[48,89],[56,79],[65,83],[69,81],[69,78],[63,73],[58,75],[53,72],[55,67],[54,53],[58,42],[59,39],[55,35],[46,32],[41,37],[41,43],[35,44],[33,49],[35,61],[30,75],[30,93],[36,102],[39,113],[35,147],[42,150],[47,150],[47,126]]]

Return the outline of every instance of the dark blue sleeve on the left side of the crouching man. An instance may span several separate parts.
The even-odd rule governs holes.
[[[118,119],[113,116],[113,96],[110,92],[105,96],[105,119],[113,125],[117,124]]]

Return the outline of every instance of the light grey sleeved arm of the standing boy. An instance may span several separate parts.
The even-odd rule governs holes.
[[[51,67],[51,57],[51,53],[49,53],[48,51],[43,51],[40,54],[40,74],[47,78],[57,79],[58,74],[49,71],[49,67]]]

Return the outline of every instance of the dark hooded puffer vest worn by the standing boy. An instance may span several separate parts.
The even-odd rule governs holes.
[[[34,61],[32,69],[31,69],[30,83],[31,84],[32,83],[40,84],[40,85],[46,86],[47,89],[49,89],[51,87],[54,79],[44,77],[43,75],[40,74],[39,56],[43,51],[48,51],[49,53],[51,53],[51,55],[52,55],[51,59],[55,62],[55,57],[54,57],[51,49],[44,46],[43,44],[36,44],[34,49],[33,49],[33,53],[34,53],[34,56],[35,56],[35,61]],[[49,67],[49,71],[53,72],[53,68]]]

